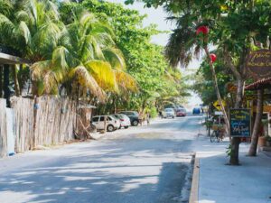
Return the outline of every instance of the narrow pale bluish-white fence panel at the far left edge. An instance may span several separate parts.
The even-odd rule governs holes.
[[[7,154],[5,99],[0,98],[0,157]]]

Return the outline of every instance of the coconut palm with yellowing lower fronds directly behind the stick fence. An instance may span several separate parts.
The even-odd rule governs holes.
[[[126,73],[112,35],[110,27],[93,14],[75,15],[61,33],[61,45],[52,52],[51,60],[33,64],[33,78],[43,78],[47,93],[63,84],[71,95],[91,94],[100,101],[105,101],[107,91],[135,90],[135,79]]]

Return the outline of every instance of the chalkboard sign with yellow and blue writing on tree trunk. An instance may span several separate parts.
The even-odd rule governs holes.
[[[230,109],[229,125],[232,137],[250,137],[250,109]]]

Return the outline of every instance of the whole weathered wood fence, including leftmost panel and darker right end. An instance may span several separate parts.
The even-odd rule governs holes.
[[[5,99],[0,98],[0,157],[8,153],[9,138],[14,141],[13,152],[66,143],[75,138],[91,138],[85,129],[89,126],[91,109],[79,109],[77,103],[69,98],[12,97],[11,106],[13,116],[7,121]],[[13,123],[9,123],[13,126],[13,133],[7,132],[7,122]]]

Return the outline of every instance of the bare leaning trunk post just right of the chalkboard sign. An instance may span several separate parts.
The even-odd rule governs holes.
[[[256,119],[254,122],[253,133],[251,136],[251,143],[248,151],[248,156],[256,156],[257,154],[257,141],[258,141],[258,133],[260,128],[260,123],[263,115],[263,95],[264,90],[257,90],[257,109],[256,109]]]

